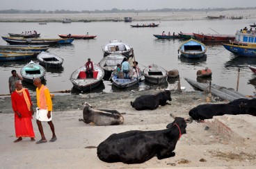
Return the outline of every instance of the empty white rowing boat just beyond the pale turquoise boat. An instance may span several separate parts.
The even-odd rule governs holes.
[[[64,60],[62,57],[59,57],[58,55],[54,55],[51,53],[47,53],[47,52],[42,52],[37,56],[39,63],[42,66],[45,67],[61,67]]]

